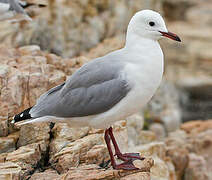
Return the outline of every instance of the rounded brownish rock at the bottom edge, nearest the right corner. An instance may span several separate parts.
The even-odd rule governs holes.
[[[209,180],[209,171],[207,169],[207,162],[202,156],[195,153],[189,154],[189,164],[185,170],[185,180]]]

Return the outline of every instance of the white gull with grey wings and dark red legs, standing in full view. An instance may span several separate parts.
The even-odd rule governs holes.
[[[12,123],[67,122],[73,127],[105,129],[112,167],[137,170],[133,161],[144,158],[120,151],[112,125],[137,113],[159,87],[164,57],[158,40],[163,37],[181,41],[168,32],[159,13],[137,12],[129,22],[122,49],[83,65],[63,84],[41,95],[33,107],[15,115]],[[114,156],[123,163],[118,164]]]

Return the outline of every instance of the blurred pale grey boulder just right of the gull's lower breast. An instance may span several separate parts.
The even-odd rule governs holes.
[[[164,133],[175,131],[181,124],[180,91],[172,82],[163,81],[146,111],[148,119],[163,124]]]

